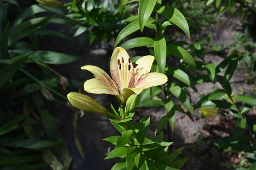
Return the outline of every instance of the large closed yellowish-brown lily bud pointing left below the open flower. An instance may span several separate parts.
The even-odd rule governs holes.
[[[74,107],[84,110],[86,112],[93,112],[105,115],[108,111],[105,107],[95,101],[93,98],[90,98],[87,95],[83,95],[77,92],[70,92],[67,95],[68,100]]]

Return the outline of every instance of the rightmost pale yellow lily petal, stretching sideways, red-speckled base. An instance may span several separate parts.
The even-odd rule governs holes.
[[[139,80],[137,80],[134,84],[134,88],[147,89],[149,87],[165,84],[167,80],[166,75],[158,72],[151,72],[143,75]]]

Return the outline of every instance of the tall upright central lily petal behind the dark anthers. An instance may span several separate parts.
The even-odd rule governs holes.
[[[124,88],[128,87],[131,69],[132,63],[128,53],[125,49],[117,47],[111,56],[110,72],[121,93]]]

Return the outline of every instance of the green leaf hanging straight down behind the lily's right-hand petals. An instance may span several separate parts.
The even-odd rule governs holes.
[[[154,53],[160,73],[164,73],[166,66],[166,40],[164,37],[154,39]]]

